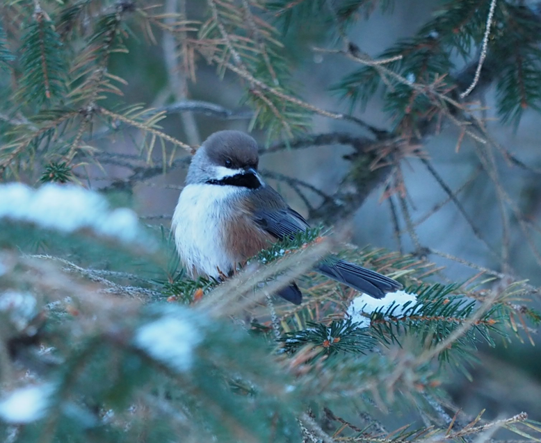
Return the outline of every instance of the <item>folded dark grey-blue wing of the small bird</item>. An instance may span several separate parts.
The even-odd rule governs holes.
[[[273,188],[260,188],[253,197],[252,217],[264,231],[280,240],[293,238],[296,233],[309,228],[307,221],[295,210],[289,208]]]

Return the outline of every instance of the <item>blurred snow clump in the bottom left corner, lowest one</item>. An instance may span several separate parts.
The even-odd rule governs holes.
[[[52,385],[26,386],[10,392],[0,400],[0,419],[22,424],[45,417],[53,392]]]

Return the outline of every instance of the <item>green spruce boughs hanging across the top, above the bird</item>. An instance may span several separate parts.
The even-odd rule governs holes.
[[[392,12],[393,3],[347,0],[334,5],[330,1],[307,0],[212,0],[208,2],[203,22],[178,15],[169,17],[150,8],[152,3],[133,1],[79,1],[50,7],[38,3],[33,11],[21,8],[18,3],[3,6],[4,20],[13,17],[22,29],[10,28],[6,34],[6,23],[0,27],[0,64],[8,69],[6,75],[10,70],[21,74],[3,112],[13,115],[23,111],[26,116],[20,122],[11,119],[8,134],[19,129],[26,131],[27,122],[33,122],[36,117],[42,120],[42,106],[47,106],[58,113],[58,118],[51,120],[49,127],[38,124],[35,132],[40,135],[62,132],[63,137],[55,140],[54,151],[60,151],[67,162],[86,156],[88,146],[84,140],[88,140],[93,124],[103,112],[111,111],[98,102],[122,96],[125,85],[124,79],[109,69],[111,57],[127,53],[127,43],[138,34],[138,29],[143,29],[150,42],[156,41],[156,32],[173,33],[186,54],[186,72],[194,80],[198,57],[216,65],[222,77],[226,72],[238,76],[245,85],[242,101],[255,111],[250,127],[265,128],[268,142],[277,135],[291,137],[307,128],[314,112],[348,119],[347,115],[303,101],[302,85],[291,80],[291,60],[284,51],[284,36],[274,26],[288,34],[297,33],[307,20],[316,27],[320,23],[327,37],[338,41],[338,46],[345,45],[339,51],[362,65],[344,74],[332,86],[350,104],[351,111],[366,106],[380,91],[393,122],[410,134],[423,131],[427,120],[435,117],[450,117],[455,124],[462,121],[467,103],[458,99],[457,93],[465,89],[471,73],[467,69],[461,71],[460,67],[476,58],[476,48],[485,34],[490,2],[443,3],[416,35],[398,41],[378,57],[389,62],[375,65],[355,42],[348,42],[343,36],[350,26],[361,17],[369,17],[376,8]],[[515,1],[497,1],[493,22],[483,75],[496,83],[503,121],[517,124],[525,109],[540,106],[541,25],[533,10]],[[289,42],[291,36],[287,38]],[[16,60],[11,47],[18,47]],[[494,60],[506,62],[499,63],[501,69],[498,69]],[[146,117],[154,115],[152,110],[140,110]],[[78,114],[74,116],[72,112]],[[131,119],[127,110],[120,117],[124,118],[123,124],[133,124],[149,133],[150,128]],[[113,119],[118,120],[118,116]],[[151,131],[152,136],[160,137],[156,131]],[[26,131],[22,143],[13,147],[10,144],[13,138],[4,136],[2,171],[17,173],[20,166],[17,158],[31,151],[35,142],[32,138]],[[188,148],[179,141],[175,143],[175,139],[165,139],[162,151],[166,152],[168,145],[170,149]],[[47,164],[52,159],[45,160]],[[96,161],[92,156],[89,160]]]

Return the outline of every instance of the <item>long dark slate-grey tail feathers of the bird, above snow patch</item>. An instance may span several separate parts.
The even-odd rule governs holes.
[[[321,262],[317,270],[324,276],[369,294],[375,299],[381,299],[387,292],[402,288],[402,285],[392,278],[337,258],[329,258]]]

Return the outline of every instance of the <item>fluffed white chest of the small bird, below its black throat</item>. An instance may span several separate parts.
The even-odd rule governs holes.
[[[193,277],[218,278],[218,269],[228,274],[234,266],[223,236],[238,192],[233,186],[202,183],[186,185],[180,193],[171,227],[180,258]]]

